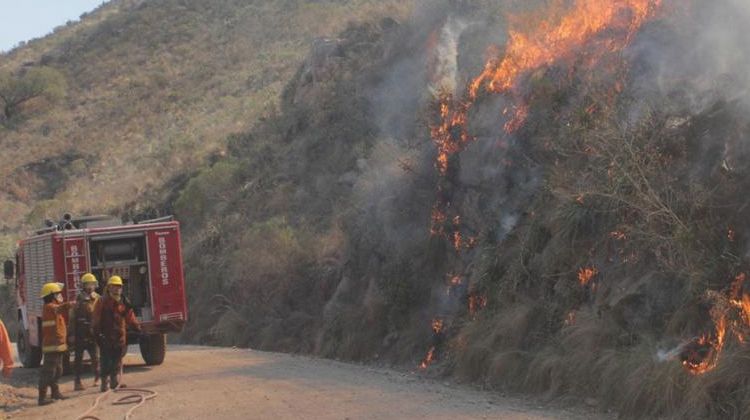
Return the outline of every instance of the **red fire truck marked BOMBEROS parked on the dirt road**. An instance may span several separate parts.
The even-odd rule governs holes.
[[[15,261],[6,261],[4,267],[5,277],[16,280],[23,366],[37,367],[42,357],[42,285],[64,283],[66,300],[74,300],[87,272],[99,279],[99,293],[110,276],[122,277],[123,294],[143,330],[129,333],[128,343],[139,343],[147,365],[161,364],[166,333],[182,331],[187,321],[179,223],[171,216],[122,223],[107,216],[74,218],[66,213],[60,222],[46,224],[19,241]]]

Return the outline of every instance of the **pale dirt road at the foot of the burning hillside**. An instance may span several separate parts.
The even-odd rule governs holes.
[[[124,383],[149,388],[159,396],[135,411],[145,419],[381,419],[381,420],[594,420],[596,414],[545,409],[469,387],[425,379],[408,372],[252,350],[172,346],[164,365],[146,367],[131,349]],[[70,398],[36,407],[36,370],[17,369],[3,382],[12,419],[75,420],[99,393],[89,387],[73,392],[71,377],[62,381]],[[93,379],[89,375],[86,384]],[[113,395],[94,414],[119,420],[127,406],[112,406]]]

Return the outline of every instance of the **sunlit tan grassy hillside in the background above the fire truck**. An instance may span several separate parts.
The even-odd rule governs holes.
[[[58,102],[31,101],[0,124],[3,254],[45,217],[117,214],[179,183],[274,108],[313,39],[408,10],[365,0],[115,0],[1,55],[0,72],[51,68],[67,85]]]

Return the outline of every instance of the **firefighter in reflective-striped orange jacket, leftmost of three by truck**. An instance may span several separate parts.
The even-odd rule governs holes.
[[[51,404],[47,399],[47,387],[52,390],[53,400],[64,400],[57,381],[62,376],[63,356],[66,355],[67,328],[63,313],[73,306],[70,302],[63,303],[63,284],[47,283],[42,286],[40,298],[44,299],[42,309],[42,353],[44,364],[39,371],[39,405]]]

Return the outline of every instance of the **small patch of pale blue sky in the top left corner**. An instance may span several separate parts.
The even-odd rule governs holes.
[[[104,0],[0,0],[0,52],[20,41],[39,38]]]

